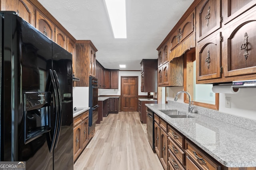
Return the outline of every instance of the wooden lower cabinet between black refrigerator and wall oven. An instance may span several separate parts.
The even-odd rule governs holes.
[[[89,111],[85,111],[73,118],[74,128],[73,128],[73,149],[74,149],[74,162],[86,147],[90,141],[90,136],[88,134],[89,125]]]

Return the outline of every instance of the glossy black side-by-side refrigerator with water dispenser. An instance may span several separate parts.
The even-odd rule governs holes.
[[[72,54],[0,12],[0,161],[73,169]]]

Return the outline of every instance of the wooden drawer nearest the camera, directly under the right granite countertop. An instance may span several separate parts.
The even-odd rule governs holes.
[[[202,170],[220,170],[220,164],[211,156],[203,153],[198,147],[189,141],[185,141],[187,156]]]

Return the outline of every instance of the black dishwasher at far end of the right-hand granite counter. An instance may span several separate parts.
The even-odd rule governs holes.
[[[153,151],[155,151],[155,131],[154,131],[154,113],[150,109],[147,111],[147,133],[148,133],[148,141]]]

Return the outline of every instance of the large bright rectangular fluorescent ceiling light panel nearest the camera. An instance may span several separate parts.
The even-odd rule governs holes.
[[[105,0],[115,38],[126,38],[125,0]]]

